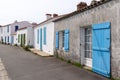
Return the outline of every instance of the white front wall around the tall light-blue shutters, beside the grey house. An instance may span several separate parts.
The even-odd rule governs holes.
[[[46,45],[44,45],[44,27],[46,27]],[[42,50],[43,52],[54,54],[54,23],[50,22],[44,25],[39,25],[34,28],[34,44],[35,48],[40,50],[40,40],[39,44],[37,43],[37,29],[42,28]]]

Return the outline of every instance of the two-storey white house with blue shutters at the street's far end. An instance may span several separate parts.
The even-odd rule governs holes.
[[[21,22],[15,21],[14,23],[1,26],[0,41],[12,45],[17,44],[18,42],[16,36],[17,30],[23,28],[24,26],[32,27],[32,24],[27,21],[21,21]]]

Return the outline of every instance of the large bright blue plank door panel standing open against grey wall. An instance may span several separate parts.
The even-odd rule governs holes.
[[[92,70],[110,77],[110,22],[92,25]]]

